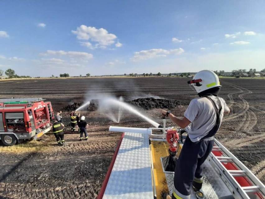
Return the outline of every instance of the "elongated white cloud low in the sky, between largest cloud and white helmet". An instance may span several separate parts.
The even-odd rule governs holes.
[[[134,56],[130,58],[132,61],[141,61],[146,59],[151,59],[155,57],[166,57],[169,54],[182,54],[184,50],[182,48],[165,50],[165,49],[151,49],[151,50],[141,50],[140,52],[135,52]]]

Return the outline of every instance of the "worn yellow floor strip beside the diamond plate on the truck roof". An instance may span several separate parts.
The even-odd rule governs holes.
[[[161,194],[168,193],[168,186],[165,178],[165,173],[162,169],[160,157],[168,156],[168,144],[163,141],[151,141],[151,150],[154,166],[154,181],[156,187],[156,198],[163,199]]]

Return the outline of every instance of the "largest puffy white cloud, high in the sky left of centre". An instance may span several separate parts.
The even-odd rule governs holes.
[[[111,33],[108,33],[104,28],[96,29],[95,27],[81,25],[77,27],[76,31],[72,31],[73,34],[77,35],[79,40],[89,40],[93,42],[92,48],[102,48],[105,49],[107,46],[115,43],[117,36]],[[118,45],[121,45],[119,42]],[[120,46],[117,46],[120,47]],[[91,48],[89,46],[89,48]]]

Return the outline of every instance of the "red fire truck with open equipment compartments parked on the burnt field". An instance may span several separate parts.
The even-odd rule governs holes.
[[[0,140],[15,145],[19,140],[37,139],[52,128],[51,102],[42,98],[0,99]]]

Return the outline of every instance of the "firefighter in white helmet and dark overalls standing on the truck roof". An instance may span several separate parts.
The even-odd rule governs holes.
[[[212,151],[214,135],[220,127],[224,114],[230,113],[225,100],[217,96],[221,85],[213,71],[199,71],[188,84],[195,88],[199,97],[191,100],[184,117],[180,119],[170,111],[161,111],[175,124],[186,128],[188,133],[174,171],[172,199],[189,199],[192,189],[197,197],[203,198],[202,164]],[[170,196],[164,195],[164,198]]]

